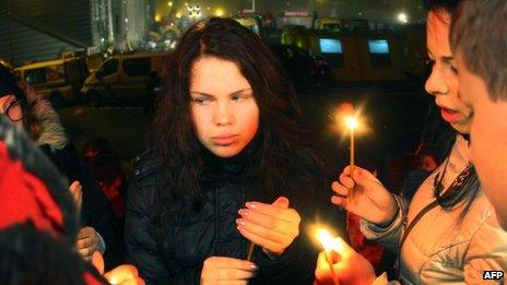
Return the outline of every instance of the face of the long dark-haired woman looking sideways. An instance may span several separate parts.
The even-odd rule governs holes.
[[[199,141],[220,157],[233,157],[259,129],[259,107],[233,61],[201,57],[192,67],[190,111]]]

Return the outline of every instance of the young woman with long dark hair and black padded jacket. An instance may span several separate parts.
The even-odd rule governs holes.
[[[127,256],[148,283],[311,284],[302,225],[326,174],[276,62],[227,19],[194,24],[174,51],[127,195]]]

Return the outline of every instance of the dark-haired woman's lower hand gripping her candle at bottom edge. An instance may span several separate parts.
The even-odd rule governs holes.
[[[248,280],[254,277],[257,265],[250,261],[211,257],[204,260],[201,271],[201,285],[211,284],[248,284]]]

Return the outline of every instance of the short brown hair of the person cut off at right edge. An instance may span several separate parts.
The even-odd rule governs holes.
[[[450,44],[484,80],[490,99],[507,100],[507,1],[464,0],[452,20]]]

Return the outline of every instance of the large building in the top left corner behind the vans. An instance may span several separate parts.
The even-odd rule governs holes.
[[[0,0],[0,58],[14,64],[143,47],[153,0]]]

